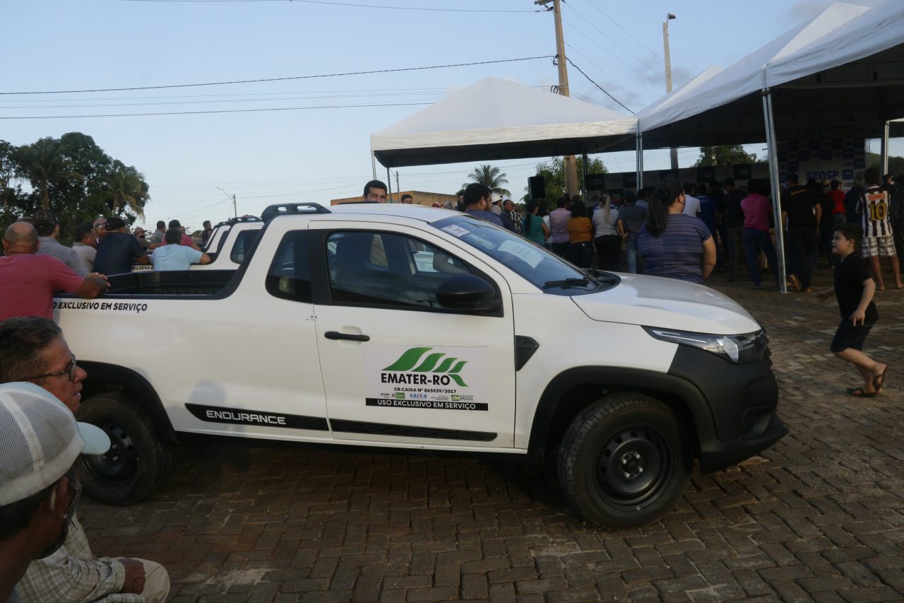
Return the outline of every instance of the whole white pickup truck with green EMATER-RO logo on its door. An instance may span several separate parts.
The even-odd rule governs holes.
[[[443,209],[263,219],[237,271],[55,300],[79,418],[113,441],[83,467],[96,498],[140,500],[170,446],[230,436],[554,455],[575,509],[619,527],[671,509],[694,458],[720,470],[787,433],[763,329],[707,287],[583,272]]]

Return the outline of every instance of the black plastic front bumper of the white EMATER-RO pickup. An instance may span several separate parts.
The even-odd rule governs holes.
[[[758,455],[786,436],[778,418],[778,384],[769,352],[764,359],[734,364],[703,349],[678,346],[669,374],[700,390],[711,426],[697,418],[702,473],[719,471]]]

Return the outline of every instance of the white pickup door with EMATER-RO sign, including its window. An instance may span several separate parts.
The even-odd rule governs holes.
[[[513,446],[513,313],[504,279],[448,253],[428,232],[311,228],[325,255],[316,340],[334,439]],[[491,282],[501,309],[442,308],[437,288],[457,273]]]

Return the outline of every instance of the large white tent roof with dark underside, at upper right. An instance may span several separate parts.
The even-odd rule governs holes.
[[[871,9],[830,5],[729,68],[698,76],[641,111],[644,146],[761,142],[759,97],[767,87],[780,139],[879,137],[885,121],[904,115],[902,28],[899,0]]]

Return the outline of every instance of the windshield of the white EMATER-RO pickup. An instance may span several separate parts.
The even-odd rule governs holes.
[[[579,295],[618,283],[615,275],[585,273],[545,247],[471,215],[454,215],[431,226],[489,255],[543,292]]]

